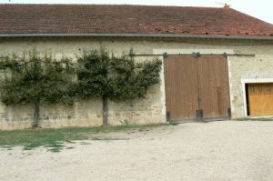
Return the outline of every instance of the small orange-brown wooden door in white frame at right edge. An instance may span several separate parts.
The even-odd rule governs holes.
[[[273,84],[248,84],[250,116],[273,116]]]

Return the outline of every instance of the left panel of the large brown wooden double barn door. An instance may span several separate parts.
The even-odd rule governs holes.
[[[194,119],[197,116],[197,59],[192,55],[168,56],[165,59],[166,107],[171,119]]]

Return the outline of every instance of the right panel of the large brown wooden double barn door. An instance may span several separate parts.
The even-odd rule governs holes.
[[[223,55],[200,56],[198,83],[203,116],[227,117],[230,105],[227,58]]]

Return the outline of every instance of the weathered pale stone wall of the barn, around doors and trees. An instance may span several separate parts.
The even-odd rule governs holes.
[[[251,45],[249,45],[251,44]],[[0,55],[24,54],[35,49],[41,54],[52,54],[56,58],[63,55],[75,58],[84,50],[100,47],[118,55],[131,48],[136,54],[157,54],[160,50],[176,53],[223,53],[255,54],[250,56],[230,56],[229,82],[233,117],[244,116],[241,79],[247,76],[272,77],[273,45],[255,45],[264,42],[240,42],[231,40],[159,40],[134,38],[2,38]],[[273,43],[272,43],[273,44]],[[203,51],[202,51],[203,50]],[[149,56],[149,58],[152,58]],[[159,58],[163,58],[159,56]],[[138,61],[148,56],[137,57]],[[262,60],[262,61],[261,61]],[[265,71],[266,69],[266,71]],[[272,71],[273,72],[273,71]],[[147,98],[124,103],[109,103],[109,123],[142,124],[166,121],[164,73],[161,82],[148,90]],[[102,124],[102,102],[99,99],[77,102],[75,106],[42,106],[41,126],[100,126]],[[6,107],[0,105],[0,129],[25,128],[31,125],[32,107]]]

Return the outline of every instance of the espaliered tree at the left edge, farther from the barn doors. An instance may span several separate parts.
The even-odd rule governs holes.
[[[73,67],[68,58],[40,57],[34,51],[2,60],[0,69],[7,72],[0,84],[1,101],[7,106],[32,104],[33,127],[39,126],[42,103],[73,103],[70,95]]]

